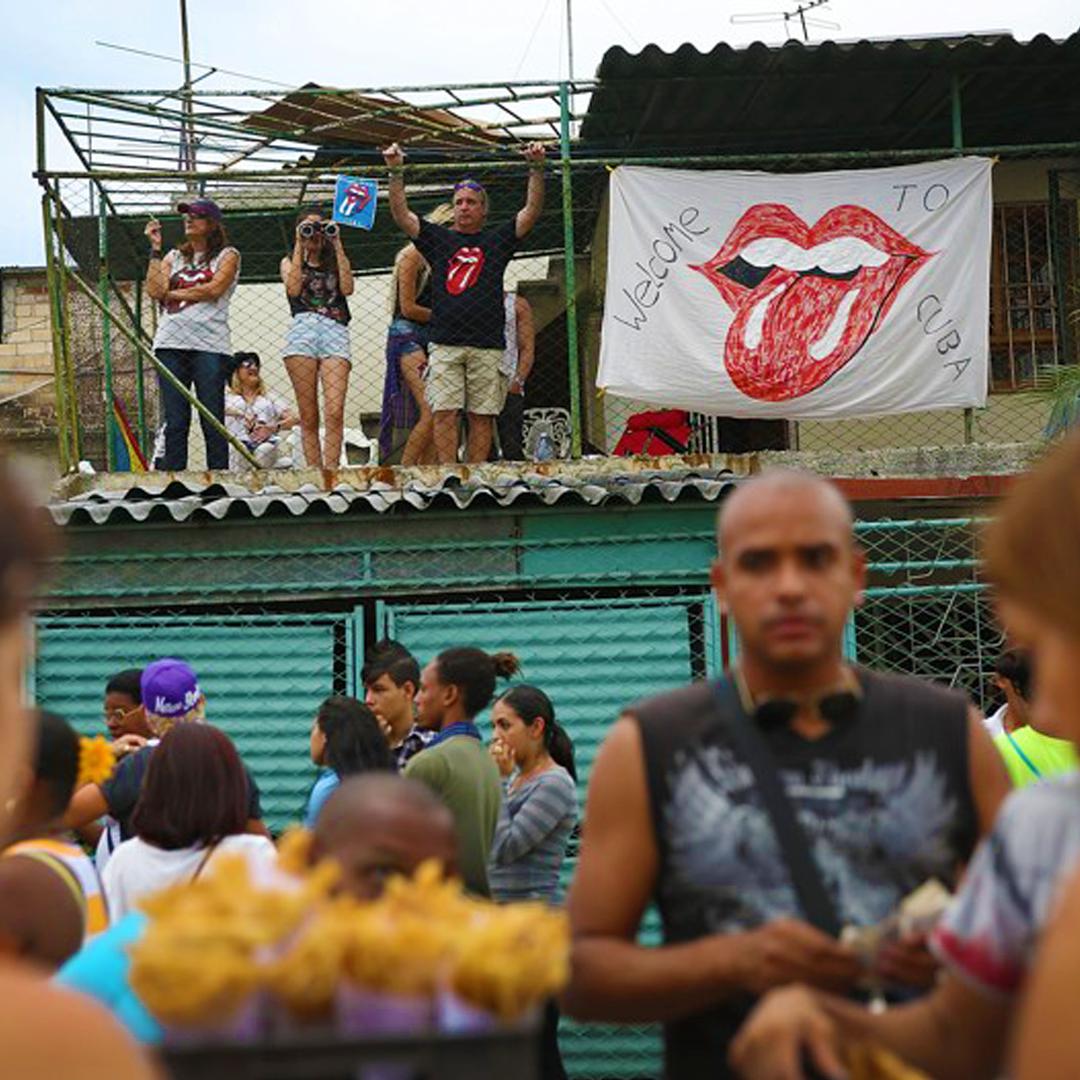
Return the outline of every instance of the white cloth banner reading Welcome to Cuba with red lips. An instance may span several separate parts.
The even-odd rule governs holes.
[[[597,384],[732,417],[985,405],[991,164],[617,168]]]

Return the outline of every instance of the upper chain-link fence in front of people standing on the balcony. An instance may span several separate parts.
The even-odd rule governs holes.
[[[473,172],[483,179],[492,216],[512,225],[525,201],[525,163],[491,176],[482,167]],[[126,198],[129,204],[146,199],[145,214],[111,217],[99,229],[100,221],[86,213],[86,186],[60,185],[64,204],[75,215],[62,228],[68,251],[77,255],[80,279],[89,281],[99,262],[110,273],[107,286],[98,283],[94,289],[109,300],[107,318],[90,296],[69,294],[67,342],[83,456],[104,464],[102,440],[108,417],[104,403],[111,396],[118,410],[110,422],[122,422],[122,409],[148,463],[204,468],[211,461],[207,445],[212,457],[218,455],[214,468],[246,463],[235,446],[231,455],[224,451],[222,460],[221,435],[213,428],[200,430],[198,416],[194,422],[189,419],[191,406],[167,377],[156,372],[150,356],[136,349],[135,338],[152,347],[174,375],[194,388],[231,434],[249,450],[259,450],[260,464],[393,464],[401,463],[403,455],[409,464],[434,462],[423,381],[429,351],[426,324],[431,315],[429,265],[392,225],[381,234],[341,229],[328,238],[327,227],[336,230],[329,220],[332,181],[302,185],[302,194],[298,185],[276,187],[280,190],[265,181],[234,183],[228,194],[214,192],[225,206],[219,224],[207,227],[204,219],[197,219],[192,226],[189,219],[189,233],[202,230],[212,237],[203,267],[201,256],[190,254],[192,241],[185,237],[184,219],[175,211],[166,212],[164,199],[154,205],[136,186],[113,184],[117,198]],[[427,193],[411,200],[416,212],[445,224],[445,215],[453,213],[453,184],[441,178],[424,187]],[[291,201],[296,199],[302,199],[299,207]],[[141,237],[150,215],[161,226],[157,245],[161,259],[151,260],[153,248]],[[503,350],[489,350],[498,355],[489,388],[494,396],[484,407],[499,415],[503,399],[510,403],[516,427],[509,419],[497,426],[496,453],[513,459],[524,453],[522,408],[513,411],[518,404],[530,416],[536,410],[558,410],[552,414],[559,419],[554,429],[556,449],[568,445],[565,297],[561,279],[551,276],[552,257],[546,254],[562,247],[562,231],[558,215],[548,213],[531,230],[527,245],[508,240],[508,249],[515,251],[505,273],[505,299],[495,298],[498,322],[490,333],[499,341],[510,340],[516,355],[504,362],[514,370],[500,372]],[[220,249],[214,251],[218,245]],[[496,251],[488,257],[504,254],[510,252]],[[462,287],[468,285],[470,267],[475,267],[468,261],[471,257],[469,253],[458,257],[454,268],[453,280]],[[291,268],[296,270],[293,281]],[[465,279],[458,282],[462,274]],[[228,280],[221,295],[207,301],[205,289],[217,287],[216,275]],[[189,303],[184,294],[192,288],[191,295],[202,299]],[[202,310],[215,306],[216,314]],[[460,336],[458,328],[451,322],[449,336]],[[234,353],[254,354],[257,366],[252,359],[238,366],[228,359]],[[170,407],[171,428],[165,424]],[[406,453],[408,436],[420,421],[424,431],[417,432]],[[453,433],[462,450],[465,427],[462,421],[462,430]]]

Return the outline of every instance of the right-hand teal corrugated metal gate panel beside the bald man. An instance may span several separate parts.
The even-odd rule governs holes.
[[[573,739],[582,801],[596,751],[619,711],[647,694],[691,678],[691,648],[718,666],[713,612],[705,597],[649,600],[576,600],[462,606],[388,606],[384,631],[418,657],[430,659],[454,645],[486,651],[509,649],[522,661],[522,678],[543,688],[559,723]],[[694,620],[704,634],[696,640]],[[486,717],[482,729],[488,733]],[[566,879],[572,874],[572,862]],[[654,912],[643,940],[659,936]],[[654,1027],[606,1027],[564,1021],[559,1041],[571,1077],[657,1077],[660,1039]]]

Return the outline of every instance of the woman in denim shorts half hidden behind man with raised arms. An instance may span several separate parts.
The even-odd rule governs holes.
[[[441,203],[426,219],[434,225],[454,220],[454,207]],[[431,406],[423,390],[428,366],[428,323],[431,321],[431,267],[406,244],[394,259],[390,281],[390,329],[387,375],[382,388],[379,455],[386,461],[396,449],[394,433],[409,430],[403,465],[434,464],[435,438]]]

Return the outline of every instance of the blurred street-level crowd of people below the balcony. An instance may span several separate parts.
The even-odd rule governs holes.
[[[735,488],[712,582],[738,657],[718,680],[627,703],[605,740],[566,897],[562,1009],[662,1024],[678,1080],[841,1077],[867,1043],[932,1077],[1071,1075],[1078,476],[1080,435],[1016,483],[987,530],[1009,642],[993,675],[1004,705],[988,718],[960,692],[845,659],[866,566],[834,486],[771,471]],[[110,1077],[141,1076],[123,1031],[152,1043],[160,1029],[126,977],[140,901],[225,852],[268,872],[274,840],[255,775],[176,658],[108,680],[119,764],[77,788],[71,728],[19,702],[49,543],[14,482],[0,484],[0,945],[23,961],[0,972],[6,1045],[29,1059],[32,1025],[15,1027],[32,1008],[33,1025],[72,1038],[93,1026]],[[298,816],[311,858],[341,864],[341,888],[378,895],[435,858],[474,894],[563,903],[573,746],[551,698],[519,674],[511,652],[455,647],[421,666],[382,642],[364,700],[319,705],[319,771]],[[500,680],[512,681],[499,692]],[[661,945],[638,936],[652,901]],[[544,1076],[564,1075],[557,1024],[553,1002]],[[57,1075],[90,1075],[81,1057],[65,1065],[63,1047],[32,1052]]]

